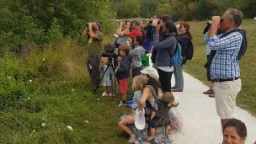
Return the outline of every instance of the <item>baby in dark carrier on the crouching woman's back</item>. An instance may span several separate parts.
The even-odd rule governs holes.
[[[161,99],[157,100],[157,109],[152,109],[152,115],[150,117],[150,136],[147,137],[147,141],[152,141],[155,138],[156,128],[165,126],[165,136],[168,136],[169,109],[173,103],[173,93],[163,93]]]

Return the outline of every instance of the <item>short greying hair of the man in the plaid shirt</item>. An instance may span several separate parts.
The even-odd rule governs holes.
[[[228,8],[227,11],[229,11],[229,19],[234,20],[236,27],[238,28],[242,24],[243,13],[236,8]]]

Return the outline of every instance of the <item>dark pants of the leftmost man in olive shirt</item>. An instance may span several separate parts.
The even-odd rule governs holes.
[[[88,56],[86,65],[90,75],[91,83],[96,87],[100,81],[99,72],[100,56]]]

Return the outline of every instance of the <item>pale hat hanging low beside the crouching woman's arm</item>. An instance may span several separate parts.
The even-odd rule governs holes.
[[[145,109],[142,108],[141,114],[139,113],[139,109],[136,109],[135,112],[135,126],[138,130],[143,130],[146,125],[146,120],[145,120]]]

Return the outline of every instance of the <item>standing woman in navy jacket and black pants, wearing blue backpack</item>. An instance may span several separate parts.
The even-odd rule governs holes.
[[[161,39],[160,39],[161,27]],[[177,40],[174,38],[175,25],[172,20],[167,20],[163,24],[157,24],[156,34],[153,35],[154,50],[157,50],[155,58],[155,67],[159,74],[159,82],[163,86],[164,92],[171,91],[171,78],[173,67],[171,67],[171,56],[176,50]]]

